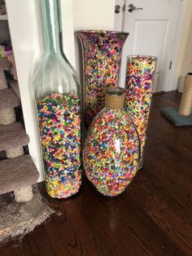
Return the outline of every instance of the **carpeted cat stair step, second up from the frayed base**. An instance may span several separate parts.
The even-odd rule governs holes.
[[[8,126],[0,126],[0,151],[25,146],[29,137],[20,122]]]

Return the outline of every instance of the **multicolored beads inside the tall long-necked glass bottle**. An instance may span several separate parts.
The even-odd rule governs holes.
[[[67,198],[81,185],[80,100],[74,95],[51,94],[37,102],[46,190]]]

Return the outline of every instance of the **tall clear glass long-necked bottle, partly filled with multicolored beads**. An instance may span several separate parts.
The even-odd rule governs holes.
[[[46,55],[34,79],[46,191],[67,198],[81,185],[80,84],[61,49],[59,1],[41,0]]]

